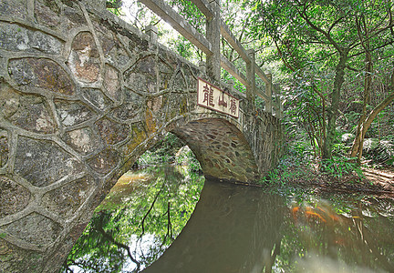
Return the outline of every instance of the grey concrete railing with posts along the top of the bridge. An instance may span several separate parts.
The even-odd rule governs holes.
[[[220,0],[190,0],[196,5],[206,17],[206,37],[199,33],[181,15],[179,15],[170,5],[163,0],[139,0],[146,5],[156,15],[170,24],[176,31],[187,38],[193,45],[196,45],[206,55],[206,73],[213,79],[220,81],[221,67],[229,72],[234,78],[246,87],[246,98],[254,102],[255,96],[264,99],[265,111],[281,118],[283,107],[280,100],[279,89],[273,85],[272,75],[265,74],[264,71],[255,64],[254,49],[244,49],[244,46],[233,35],[229,27],[220,18]],[[246,76],[239,71],[220,52],[220,38],[223,36],[226,41],[233,46],[233,49],[244,60],[246,65]],[[265,90],[256,88],[255,75],[259,76],[265,84]]]

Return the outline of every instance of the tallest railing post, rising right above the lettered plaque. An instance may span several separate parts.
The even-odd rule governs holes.
[[[220,0],[210,1],[213,17],[206,20],[206,35],[207,40],[212,45],[212,54],[206,56],[206,73],[207,76],[212,77],[215,81],[220,81],[221,78],[221,54],[220,54]]]

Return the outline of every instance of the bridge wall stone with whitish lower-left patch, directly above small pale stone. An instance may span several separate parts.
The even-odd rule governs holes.
[[[75,126],[93,117],[89,106],[80,102],[55,100],[57,115],[64,126]]]

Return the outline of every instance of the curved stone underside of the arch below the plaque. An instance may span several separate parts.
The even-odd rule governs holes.
[[[172,131],[192,149],[205,176],[253,182],[254,155],[242,132],[221,118],[202,118]]]

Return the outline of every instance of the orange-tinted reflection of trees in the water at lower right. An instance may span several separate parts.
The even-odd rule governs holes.
[[[321,201],[288,209],[276,267],[307,271],[310,264],[328,261],[330,270],[394,272],[393,200],[334,201],[335,210]]]

